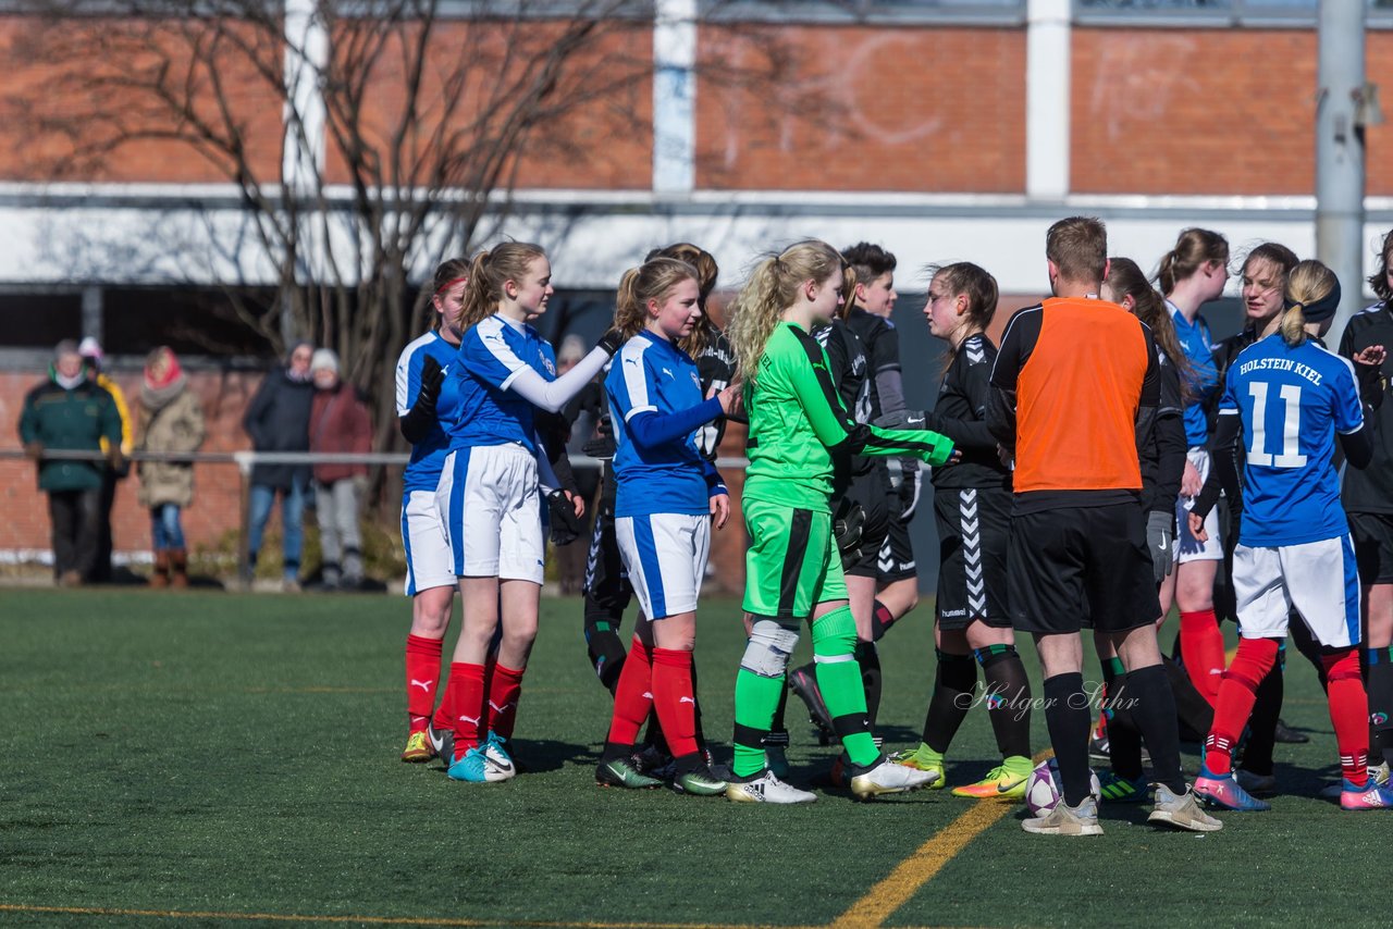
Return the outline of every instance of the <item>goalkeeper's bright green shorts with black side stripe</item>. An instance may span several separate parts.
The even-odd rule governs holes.
[[[747,613],[802,620],[818,603],[847,599],[830,514],[748,497],[741,506]]]

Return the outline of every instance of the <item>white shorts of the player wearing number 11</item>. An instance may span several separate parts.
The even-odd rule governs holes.
[[[1240,545],[1233,552],[1233,591],[1245,639],[1286,637],[1294,606],[1321,645],[1360,643],[1360,572],[1348,535],[1272,549]]]

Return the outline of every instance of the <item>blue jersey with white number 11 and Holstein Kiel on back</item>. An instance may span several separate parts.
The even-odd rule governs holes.
[[[1334,433],[1364,426],[1348,359],[1309,340],[1293,348],[1273,333],[1238,352],[1219,415],[1243,416],[1243,545],[1304,545],[1350,531],[1332,461]]]

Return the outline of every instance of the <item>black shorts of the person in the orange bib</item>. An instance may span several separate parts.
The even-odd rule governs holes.
[[[1021,632],[1124,632],[1160,616],[1146,522],[1135,503],[1011,517],[1007,604]]]

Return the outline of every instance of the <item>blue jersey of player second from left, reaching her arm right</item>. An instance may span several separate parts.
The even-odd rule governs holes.
[[[493,315],[471,326],[460,343],[450,377],[450,447],[501,446],[515,442],[536,451],[531,403],[508,387],[524,370],[556,380],[552,344],[527,323]],[[443,391],[442,391],[443,396]]]

